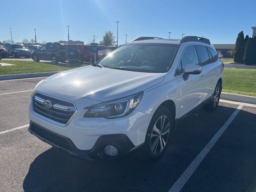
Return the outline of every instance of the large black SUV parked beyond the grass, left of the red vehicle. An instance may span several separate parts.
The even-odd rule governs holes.
[[[78,63],[80,56],[77,48],[74,45],[54,42],[46,43],[39,50],[32,51],[31,58],[34,60],[34,62],[39,62],[40,60],[49,60],[52,61],[52,64],[58,64],[60,61]]]

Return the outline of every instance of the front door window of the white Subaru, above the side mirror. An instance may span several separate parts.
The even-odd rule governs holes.
[[[185,49],[185,51],[183,52],[182,58],[180,60],[180,64],[176,69],[176,74],[183,73],[184,68],[187,64],[199,65],[195,46],[189,46],[188,48]]]

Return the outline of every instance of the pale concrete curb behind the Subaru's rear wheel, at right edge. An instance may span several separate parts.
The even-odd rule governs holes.
[[[223,100],[256,104],[256,97],[222,92],[220,98]]]

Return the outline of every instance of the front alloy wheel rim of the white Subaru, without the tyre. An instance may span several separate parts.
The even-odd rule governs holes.
[[[160,116],[151,133],[150,146],[153,154],[162,152],[169,138],[170,120],[166,115]]]

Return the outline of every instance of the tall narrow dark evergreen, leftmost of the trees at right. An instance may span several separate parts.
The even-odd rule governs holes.
[[[241,31],[238,33],[238,36],[236,38],[236,47],[234,50],[234,62],[242,63],[243,57],[244,57],[244,32]]]

